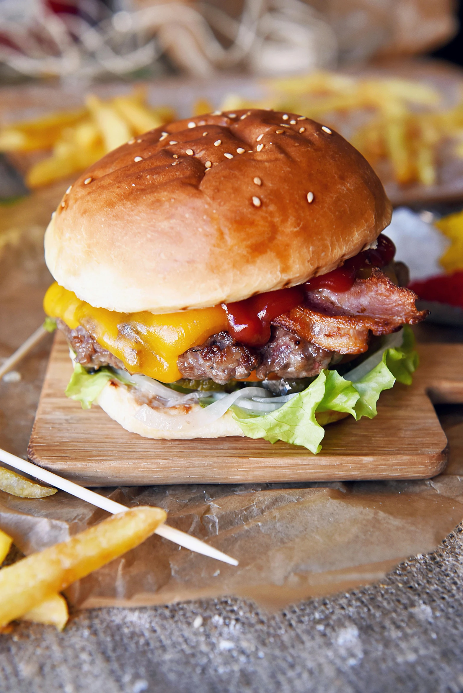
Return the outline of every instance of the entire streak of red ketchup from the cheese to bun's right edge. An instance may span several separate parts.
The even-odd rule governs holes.
[[[248,347],[263,347],[270,340],[270,322],[288,310],[304,303],[306,291],[329,288],[332,291],[347,291],[356,281],[362,267],[384,267],[394,257],[394,243],[387,236],[379,236],[376,250],[365,250],[347,260],[333,272],[313,277],[301,286],[290,289],[268,291],[252,296],[245,301],[222,304],[228,317],[228,331],[241,344]]]

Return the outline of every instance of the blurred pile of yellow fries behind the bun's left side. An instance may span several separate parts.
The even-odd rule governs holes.
[[[51,155],[33,164],[26,174],[28,187],[37,188],[85,170],[131,137],[174,117],[168,107],[148,106],[143,89],[110,101],[89,94],[85,108],[0,128],[0,151],[51,150]]]

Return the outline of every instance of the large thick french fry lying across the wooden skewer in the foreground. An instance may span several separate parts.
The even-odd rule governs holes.
[[[165,520],[166,513],[160,508],[132,508],[2,568],[0,626],[141,544]]]

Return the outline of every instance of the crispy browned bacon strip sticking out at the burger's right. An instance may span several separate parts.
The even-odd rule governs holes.
[[[396,286],[380,270],[368,279],[356,279],[349,291],[320,289],[308,293],[307,306],[279,315],[272,324],[304,337],[322,349],[362,353],[369,331],[389,335],[403,324],[421,322],[426,310],[417,310],[417,296]]]

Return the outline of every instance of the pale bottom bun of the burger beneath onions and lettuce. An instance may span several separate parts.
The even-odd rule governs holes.
[[[120,385],[117,381],[110,381],[105,385],[100,395],[96,399],[96,404],[107,413],[111,419],[117,421],[125,430],[131,433],[138,433],[143,438],[154,438],[157,440],[190,440],[193,438],[224,438],[228,436],[241,436],[245,434],[233,418],[230,410],[225,412],[220,419],[209,423],[207,426],[198,426],[198,428],[189,428],[188,430],[162,430],[161,428],[151,428],[144,421],[135,419],[135,414],[140,408],[139,402],[130,392],[130,389]],[[194,409],[200,409],[200,405],[195,404]],[[175,416],[175,414],[173,414]],[[315,414],[320,426],[326,426],[328,423],[339,421],[349,416],[344,412],[321,412]]]

